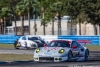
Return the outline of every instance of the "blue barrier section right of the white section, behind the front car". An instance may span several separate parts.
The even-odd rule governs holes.
[[[100,36],[58,36],[58,39],[90,40],[92,45],[100,44]]]

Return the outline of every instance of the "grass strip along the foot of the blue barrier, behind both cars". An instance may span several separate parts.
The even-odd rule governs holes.
[[[100,45],[87,45],[86,47],[89,50],[100,50]],[[12,48],[14,48],[14,45],[13,44],[0,44],[0,48],[12,49]]]

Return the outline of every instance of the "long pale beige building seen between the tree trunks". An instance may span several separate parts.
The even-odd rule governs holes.
[[[16,21],[17,35],[21,35],[21,21]],[[30,20],[30,34],[34,35],[34,20]],[[28,20],[24,21],[24,34],[28,35]],[[12,22],[12,26],[7,27],[7,34],[14,34],[15,23]],[[37,32],[36,35],[43,35],[43,26],[41,25],[41,19],[36,19]],[[62,35],[79,35],[79,24],[72,24],[68,22],[68,16],[62,17],[61,20]],[[99,27],[97,26],[98,34]],[[81,24],[81,35],[94,35],[94,27],[90,23],[84,22]],[[58,34],[58,22],[54,22],[54,35]],[[52,22],[48,23],[46,27],[46,35],[52,35]]]

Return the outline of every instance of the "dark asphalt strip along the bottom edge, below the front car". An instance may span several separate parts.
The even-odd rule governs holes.
[[[60,63],[25,63],[0,65],[0,67],[100,67],[100,61],[60,62]]]

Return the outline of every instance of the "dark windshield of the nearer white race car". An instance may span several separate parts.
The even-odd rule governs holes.
[[[49,44],[47,44],[46,47],[70,47],[70,44],[65,41],[53,41]]]

